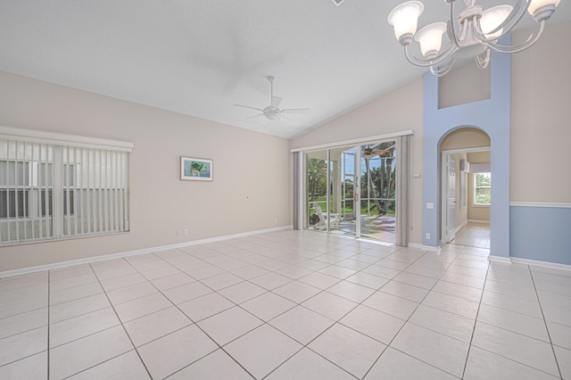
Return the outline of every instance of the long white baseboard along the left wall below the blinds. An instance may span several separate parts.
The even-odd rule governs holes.
[[[87,257],[85,259],[55,262],[53,264],[38,265],[37,267],[6,270],[4,272],[0,272],[0,278],[27,275],[29,273],[41,272],[43,270],[66,268],[66,267],[72,267],[72,266],[80,265],[80,264],[88,264],[91,262],[119,259],[122,257],[129,257],[129,256],[137,256],[137,255],[145,254],[145,253],[168,251],[168,250],[173,250],[173,249],[177,249],[177,248],[187,247],[189,245],[220,242],[220,241],[228,240],[228,239],[236,239],[236,238],[244,237],[244,236],[266,234],[269,232],[281,231],[281,230],[292,229],[292,228],[293,228],[293,226],[274,227],[274,228],[268,228],[268,229],[261,229],[261,230],[257,230],[257,231],[243,232],[243,233],[235,234],[235,235],[224,235],[224,236],[211,237],[208,239],[194,240],[192,242],[170,244],[170,245],[161,245],[158,247],[144,248],[144,249],[136,250],[136,251],[111,253],[111,254],[106,254],[103,256]]]

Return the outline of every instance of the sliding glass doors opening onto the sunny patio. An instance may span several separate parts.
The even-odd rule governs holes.
[[[305,228],[395,243],[396,142],[305,153]]]

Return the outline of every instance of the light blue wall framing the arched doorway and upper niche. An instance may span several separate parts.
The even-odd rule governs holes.
[[[509,44],[509,36],[501,39]],[[476,63],[471,63],[476,64]],[[490,254],[509,257],[509,54],[492,53],[491,98],[479,102],[438,109],[438,78],[424,76],[424,183],[423,244],[438,246],[441,168],[440,144],[451,131],[463,127],[479,128],[490,136],[492,161],[492,207],[490,210]],[[434,202],[434,210],[426,209]],[[426,240],[426,233],[431,239]]]

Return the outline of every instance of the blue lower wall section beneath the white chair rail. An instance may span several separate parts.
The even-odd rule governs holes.
[[[571,265],[571,208],[510,206],[511,256]]]

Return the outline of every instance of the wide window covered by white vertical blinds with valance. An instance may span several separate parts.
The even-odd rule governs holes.
[[[51,135],[0,127],[0,245],[127,232],[132,145]]]

